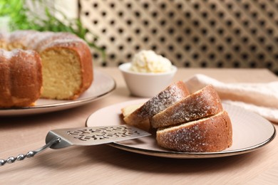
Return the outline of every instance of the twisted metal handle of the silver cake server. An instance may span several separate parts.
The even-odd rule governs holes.
[[[52,139],[50,142],[48,142],[46,145],[44,145],[43,147],[41,147],[39,149],[36,149],[34,151],[27,152],[27,154],[25,154],[25,155],[24,154],[19,154],[17,157],[9,157],[6,160],[5,159],[0,159],[0,166],[4,166],[4,164],[6,164],[6,163],[11,164],[11,163],[14,163],[16,161],[22,161],[26,157],[27,158],[34,157],[39,152],[42,152],[43,150],[48,149],[53,144],[56,144],[56,143],[58,143],[60,141],[61,141],[61,138],[60,137],[56,137],[56,138]]]

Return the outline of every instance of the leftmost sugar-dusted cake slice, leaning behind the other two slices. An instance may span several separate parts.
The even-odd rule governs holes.
[[[165,110],[167,107],[175,104],[189,95],[189,90],[187,89],[185,83],[182,81],[177,81],[169,85],[167,88],[162,90],[158,95],[150,98],[142,106],[138,107],[135,111],[131,112],[129,115],[124,117],[124,121],[128,125],[133,125],[141,129],[150,129],[149,119],[153,115],[158,114]],[[123,112],[123,110],[122,110]]]

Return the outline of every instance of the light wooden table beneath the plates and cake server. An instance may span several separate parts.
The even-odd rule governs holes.
[[[50,129],[82,127],[94,111],[134,100],[117,68],[110,74],[117,88],[101,100],[71,110],[26,117],[0,117],[0,158],[43,146]],[[269,82],[265,69],[179,69],[175,80],[202,73],[223,82]],[[278,125],[275,125],[278,129]],[[278,182],[278,139],[249,154],[215,159],[150,157],[108,145],[47,149],[31,159],[0,166],[0,184],[274,184]]]

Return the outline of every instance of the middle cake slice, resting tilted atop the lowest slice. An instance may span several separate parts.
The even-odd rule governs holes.
[[[223,110],[220,97],[212,85],[192,93],[183,100],[150,118],[154,128],[177,125],[216,115]]]

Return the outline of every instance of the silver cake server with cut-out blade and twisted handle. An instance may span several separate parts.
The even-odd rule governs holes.
[[[128,139],[149,136],[150,133],[132,127],[130,125],[114,125],[105,127],[76,127],[68,129],[53,129],[46,135],[46,145],[27,154],[19,154],[17,157],[0,159],[0,166],[14,163],[23,159],[34,157],[45,149],[60,149],[73,145],[91,146],[120,142]]]

